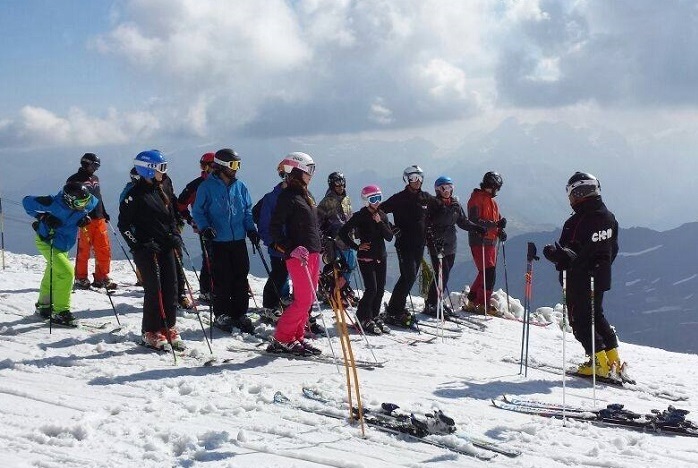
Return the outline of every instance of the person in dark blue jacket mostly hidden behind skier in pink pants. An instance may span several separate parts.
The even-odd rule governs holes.
[[[288,298],[290,294],[290,285],[288,282],[288,270],[286,269],[286,261],[284,256],[276,250],[272,245],[271,233],[269,232],[269,223],[271,216],[276,209],[276,203],[281,192],[288,186],[288,173],[291,171],[292,161],[283,159],[276,168],[277,174],[281,178],[281,182],[276,184],[271,192],[264,196],[252,207],[252,217],[255,220],[259,236],[267,246],[269,253],[269,261],[271,262],[271,271],[267,282],[264,284],[262,293],[262,307],[264,308],[265,320],[276,323],[281,317],[283,310],[282,301]],[[261,255],[261,254],[260,254]]]

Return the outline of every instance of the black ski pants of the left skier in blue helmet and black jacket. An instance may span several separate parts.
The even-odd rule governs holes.
[[[177,321],[177,262],[172,249],[160,253],[140,249],[133,252],[143,283],[143,332],[156,332],[163,328],[162,315],[167,328]],[[161,302],[162,299],[162,302]]]

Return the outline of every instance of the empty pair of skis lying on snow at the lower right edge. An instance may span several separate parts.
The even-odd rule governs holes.
[[[698,426],[686,419],[687,410],[669,406],[665,410],[652,410],[640,414],[625,409],[622,404],[611,404],[605,408],[590,409],[563,406],[537,400],[502,395],[492,399],[497,408],[551,418],[568,418],[589,421],[604,426],[618,426],[656,434],[673,434],[698,437]]]

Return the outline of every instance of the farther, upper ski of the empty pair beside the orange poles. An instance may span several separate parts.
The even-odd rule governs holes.
[[[303,387],[303,395],[306,398],[318,401],[320,403],[334,404],[335,406],[337,405],[337,403],[333,400],[325,398],[319,392],[308,387]],[[436,411],[434,413],[422,416],[415,416],[412,413],[408,414],[403,411],[398,411],[399,408],[400,407],[394,403],[382,403],[380,409],[364,407],[364,418],[366,418],[368,415],[382,421],[411,424],[414,426],[411,429],[413,432],[412,435],[416,437],[448,436],[448,438],[456,438],[472,444],[477,448],[499,453],[507,457],[514,458],[521,455],[521,451],[519,450],[508,448],[496,442],[472,436],[470,434],[462,433],[456,428],[453,418],[446,416],[442,411]],[[356,408],[354,408],[353,411],[358,417]]]

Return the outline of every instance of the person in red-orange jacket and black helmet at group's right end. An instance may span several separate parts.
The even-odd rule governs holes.
[[[486,232],[468,232],[468,243],[477,268],[477,276],[468,292],[468,304],[465,310],[477,314],[496,314],[497,310],[488,305],[494,289],[497,273],[497,241],[507,240],[504,228],[506,218],[499,214],[499,206],[494,197],[504,184],[502,176],[496,172],[487,172],[482,177],[479,189],[474,189],[468,200],[468,218],[475,224],[487,228]]]

